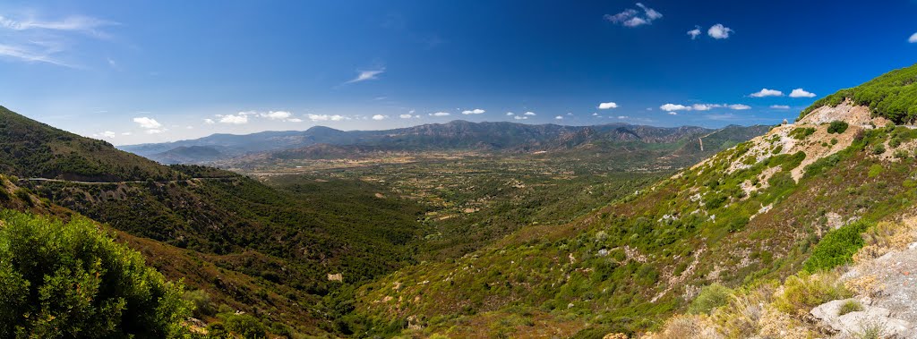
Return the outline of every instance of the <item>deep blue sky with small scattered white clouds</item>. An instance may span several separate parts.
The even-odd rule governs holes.
[[[877,4],[5,0],[0,104],[116,145],[455,119],[773,124],[917,62],[917,3]]]

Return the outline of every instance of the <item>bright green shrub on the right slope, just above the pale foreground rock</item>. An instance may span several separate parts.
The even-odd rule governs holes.
[[[812,248],[812,256],[805,261],[803,269],[814,272],[850,263],[856,251],[865,244],[861,234],[870,226],[866,222],[856,222],[829,231]]]

